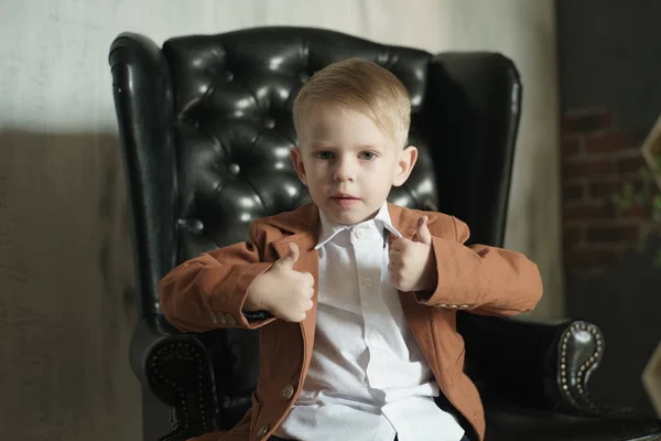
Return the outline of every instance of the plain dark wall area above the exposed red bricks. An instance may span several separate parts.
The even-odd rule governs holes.
[[[661,111],[661,1],[557,0],[564,109],[605,107],[649,130]]]

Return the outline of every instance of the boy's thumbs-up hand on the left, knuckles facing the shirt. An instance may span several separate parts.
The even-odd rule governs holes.
[[[246,310],[269,311],[288,322],[305,319],[313,305],[314,278],[310,272],[293,269],[299,254],[299,247],[290,244],[286,256],[252,281],[248,288]]]

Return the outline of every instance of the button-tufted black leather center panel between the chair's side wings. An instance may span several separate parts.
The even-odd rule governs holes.
[[[296,144],[292,106],[324,66],[359,56],[392,71],[413,103],[411,142],[421,160],[391,200],[435,207],[436,179],[421,115],[430,54],[322,30],[270,29],[173,39],[171,66],[177,121],[180,259],[245,240],[251,222],[310,202],[290,160]],[[419,132],[422,131],[422,132]]]

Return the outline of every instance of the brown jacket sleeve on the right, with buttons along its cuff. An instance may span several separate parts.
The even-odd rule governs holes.
[[[452,220],[454,240],[432,234],[438,282],[431,295],[420,293],[418,301],[484,315],[514,315],[534,309],[542,297],[538,266],[519,252],[464,245],[468,226],[455,217]]]

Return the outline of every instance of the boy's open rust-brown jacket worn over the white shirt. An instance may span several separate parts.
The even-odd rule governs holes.
[[[427,215],[438,286],[430,297],[400,292],[402,309],[441,390],[472,424],[480,440],[485,418],[480,397],[464,374],[464,341],[456,331],[457,310],[477,314],[513,315],[534,308],[542,295],[537,266],[524,256],[500,248],[463,245],[468,227],[455,217],[389,204],[393,226],[413,238],[416,222]],[[318,276],[317,207],[259,219],[250,227],[250,241],[231,245],[188,260],[161,280],[161,308],[182,331],[218,327],[257,329],[260,332],[260,377],[252,408],[227,432],[197,441],[247,441],[270,437],[296,400],[310,366],[315,320],[314,306],[301,323],[279,319],[248,322],[241,309],[248,287],[272,262],[288,252],[288,244],[301,249],[294,267]],[[316,290],[316,284],[315,284]]]

